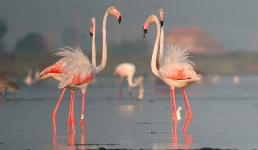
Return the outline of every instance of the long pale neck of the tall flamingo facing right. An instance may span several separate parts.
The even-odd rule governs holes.
[[[97,73],[101,72],[106,64],[107,64],[107,41],[106,41],[106,23],[107,23],[107,16],[109,15],[108,11],[106,11],[103,24],[102,24],[102,36],[103,36],[103,43],[102,43],[102,60],[99,66],[97,66]]]

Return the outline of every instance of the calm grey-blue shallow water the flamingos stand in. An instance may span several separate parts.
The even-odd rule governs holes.
[[[211,77],[186,88],[193,120],[182,134],[171,133],[171,105],[168,87],[155,85],[154,77],[145,80],[145,95],[137,101],[133,88],[131,101],[124,82],[123,97],[118,100],[119,78],[97,78],[87,89],[85,101],[85,135],[81,135],[81,92],[75,92],[76,134],[67,135],[70,90],[67,89],[56,118],[53,135],[52,111],[61,93],[57,82],[48,79],[37,85],[21,86],[14,99],[10,93],[0,101],[0,149],[176,149],[176,148],[258,148],[258,76]],[[21,81],[21,79],[17,79]],[[185,104],[180,89],[176,90],[177,106]],[[149,132],[152,133],[149,133]],[[1,144],[2,143],[2,144]]]

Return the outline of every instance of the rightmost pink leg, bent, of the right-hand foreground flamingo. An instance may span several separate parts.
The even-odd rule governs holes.
[[[185,122],[184,122],[184,126],[183,126],[183,129],[182,129],[182,133],[185,133],[187,128],[188,128],[188,125],[190,124],[192,118],[193,118],[193,115],[192,115],[192,111],[191,111],[191,108],[190,108],[190,105],[189,105],[189,102],[188,102],[188,98],[187,98],[187,95],[186,95],[186,92],[185,92],[185,88],[182,89],[183,91],[183,94],[184,94],[184,97],[185,97],[185,106],[186,106],[186,114],[185,114]],[[187,122],[186,122],[186,118],[188,118]]]

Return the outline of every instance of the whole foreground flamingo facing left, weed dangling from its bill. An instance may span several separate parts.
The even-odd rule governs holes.
[[[177,115],[176,115],[176,102],[175,102],[175,88],[182,88],[183,95],[185,98],[186,114],[185,122],[183,124],[182,133],[187,131],[188,125],[190,124],[193,116],[186,95],[185,87],[189,86],[192,82],[201,80],[201,75],[197,75],[193,70],[193,62],[188,59],[187,50],[191,47],[180,48],[177,46],[165,45],[164,52],[160,56],[159,70],[156,66],[156,59],[158,54],[158,42],[160,39],[160,24],[157,16],[150,15],[143,24],[144,37],[147,33],[147,29],[151,23],[157,25],[157,35],[155,45],[151,58],[151,71],[155,76],[163,80],[169,86],[169,92],[171,97],[171,108],[172,108],[172,132],[176,133],[177,129]]]

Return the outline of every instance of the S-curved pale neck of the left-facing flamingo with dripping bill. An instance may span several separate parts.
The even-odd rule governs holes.
[[[158,42],[159,42],[159,38],[160,38],[160,24],[159,24],[157,16],[155,16],[155,15],[154,15],[154,22],[157,25],[157,35],[156,35],[156,41],[155,41],[155,45],[154,45],[153,53],[152,53],[152,57],[151,57],[151,71],[153,72],[153,74],[155,76],[160,78],[159,71],[156,66],[157,54],[158,54]]]

